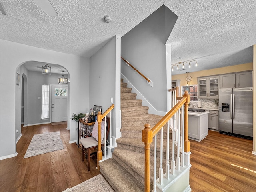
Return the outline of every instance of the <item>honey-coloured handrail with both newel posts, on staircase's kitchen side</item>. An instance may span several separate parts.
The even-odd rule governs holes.
[[[164,124],[172,118],[172,116],[185,104],[184,107],[184,152],[190,151],[190,142],[188,140],[188,104],[190,95],[185,91],[182,99],[152,128],[149,124],[145,124],[142,130],[142,142],[145,145],[145,192],[150,192],[150,144],[153,142],[153,137],[162,129]]]

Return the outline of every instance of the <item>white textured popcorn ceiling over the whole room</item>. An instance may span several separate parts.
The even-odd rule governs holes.
[[[165,4],[179,17],[167,41],[172,63],[198,59],[198,67],[187,64],[172,74],[252,62],[256,44],[254,0],[50,0],[56,17],[33,0],[1,3],[6,12],[0,14],[1,39],[84,57]]]

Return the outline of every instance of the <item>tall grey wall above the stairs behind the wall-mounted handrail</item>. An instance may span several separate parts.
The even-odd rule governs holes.
[[[171,78],[167,77],[171,71],[166,71],[165,44],[177,18],[163,5],[121,38],[121,56],[152,80],[153,87],[124,62],[121,73],[159,111],[167,110],[166,87],[171,84]]]

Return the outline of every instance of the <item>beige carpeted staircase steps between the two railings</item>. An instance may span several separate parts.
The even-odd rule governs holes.
[[[144,191],[144,143],[142,142],[142,130],[145,124],[151,128],[161,120],[162,116],[148,114],[148,107],[142,106],[142,100],[136,99],[132,88],[127,88],[127,83],[121,79],[121,111],[122,111],[122,137],[116,140],[112,158],[100,162],[100,172],[110,183],[116,192],[140,192]],[[163,136],[166,138],[167,126],[164,126]],[[170,130],[171,132],[171,130]],[[160,134],[158,134],[160,135]],[[160,138],[160,136],[158,136]],[[170,135],[171,138],[171,135]],[[160,141],[160,140],[157,140]],[[154,143],[154,141],[153,141]],[[150,183],[153,183],[153,154],[154,145],[150,146]],[[172,141],[170,140],[170,144]],[[164,146],[166,143],[164,142]],[[160,144],[157,145],[159,157]],[[164,147],[166,149],[166,147]],[[166,158],[166,151],[163,154]],[[159,158],[157,158],[159,162]],[[171,152],[170,152],[171,160]],[[159,163],[158,163],[159,166]],[[163,162],[165,169],[165,161]],[[157,167],[157,170],[159,167]],[[158,174],[158,172],[157,172]]]

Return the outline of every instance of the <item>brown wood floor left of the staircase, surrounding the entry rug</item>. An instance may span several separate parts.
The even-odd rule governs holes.
[[[100,172],[96,159],[81,161],[81,149],[69,144],[67,124],[22,127],[22,137],[17,144],[18,155],[0,161],[1,192],[61,192]],[[23,159],[34,134],[60,131],[64,149]]]

